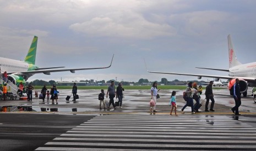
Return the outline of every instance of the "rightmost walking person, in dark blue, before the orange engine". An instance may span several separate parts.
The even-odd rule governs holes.
[[[239,79],[236,79],[236,83],[234,84],[234,95],[235,99],[235,107],[231,108],[232,112],[235,113],[235,115],[241,115],[239,114],[238,108],[241,106],[241,93],[240,93],[240,85],[239,85]]]

